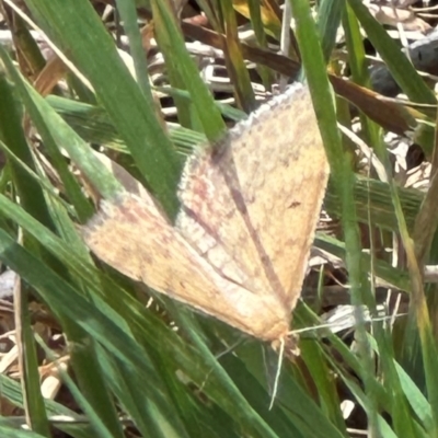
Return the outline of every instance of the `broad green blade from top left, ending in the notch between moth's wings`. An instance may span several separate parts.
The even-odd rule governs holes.
[[[38,24],[91,82],[149,187],[173,217],[178,206],[181,159],[92,4],[88,0],[27,0],[26,4]]]

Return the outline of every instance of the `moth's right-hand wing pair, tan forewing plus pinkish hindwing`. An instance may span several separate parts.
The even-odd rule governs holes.
[[[309,92],[296,85],[232,129],[219,151],[189,160],[176,223],[223,275],[291,309],[327,175]]]

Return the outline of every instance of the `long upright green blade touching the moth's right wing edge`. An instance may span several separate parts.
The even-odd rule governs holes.
[[[325,62],[318,38],[315,24],[306,0],[291,0],[297,24],[297,39],[301,49],[302,64],[309,82],[319,128],[327,154],[332,181],[341,198],[342,223],[346,244],[346,265],[349,274],[351,302],[355,306],[356,333],[358,349],[362,361],[362,379],[370,391],[373,380],[373,364],[370,359],[364,314],[360,304],[367,290],[368,280],[361,270],[361,245],[354,208],[354,173],[350,169],[349,154],[343,148],[337,130],[333,93],[325,72]],[[378,434],[377,401],[370,391],[367,416],[371,430]]]

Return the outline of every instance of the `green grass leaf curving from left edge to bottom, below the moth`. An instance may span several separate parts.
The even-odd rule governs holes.
[[[96,306],[95,302],[99,301],[96,297],[93,300],[94,304],[85,300],[39,260],[16,244],[3,230],[0,230],[0,260],[33,285],[44,301],[49,302],[55,311],[67,313],[90,336],[124,361],[132,372],[132,378],[136,378],[138,384],[148,391],[151,405],[171,415],[175,430],[178,430],[182,437],[186,436],[148,355],[120,325],[116,325],[117,321],[110,319],[101,311],[105,308],[104,303]],[[146,376],[148,379],[153,379],[154,385],[148,384]],[[151,425],[160,429],[152,414],[149,420]]]

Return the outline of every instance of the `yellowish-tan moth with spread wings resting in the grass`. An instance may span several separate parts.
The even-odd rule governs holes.
[[[301,293],[327,176],[309,91],[296,83],[187,159],[174,224],[148,192],[124,192],[83,237],[126,276],[275,342]]]

